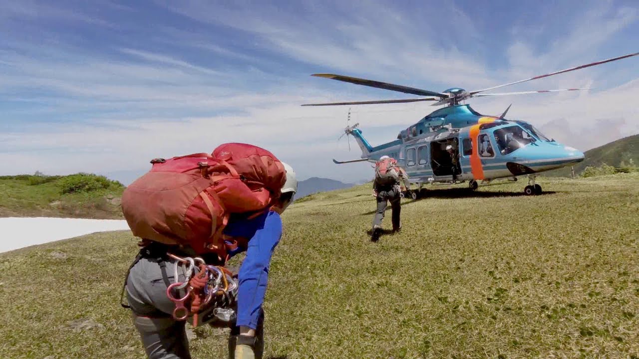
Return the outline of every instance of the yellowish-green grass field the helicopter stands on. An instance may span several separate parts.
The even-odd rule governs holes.
[[[524,185],[429,186],[442,189],[404,200],[403,231],[376,243],[370,185],[296,203],[265,357],[638,358],[639,174]],[[119,306],[135,252],[107,233],[0,254],[0,356],[143,357]],[[226,332],[196,330],[191,348],[226,358]]]

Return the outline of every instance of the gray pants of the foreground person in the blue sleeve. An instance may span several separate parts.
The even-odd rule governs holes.
[[[178,266],[178,281],[185,279],[184,266]],[[197,273],[197,271],[196,271]],[[174,282],[174,259],[142,258],[131,268],[127,278],[128,305],[131,307],[135,328],[140,333],[144,351],[149,359],[190,359],[186,321],[173,319],[175,305],[166,295]],[[183,289],[176,294],[184,296]],[[256,358],[263,350],[263,316],[258,321],[255,346]],[[235,353],[235,342],[240,329],[231,326],[229,358]]]

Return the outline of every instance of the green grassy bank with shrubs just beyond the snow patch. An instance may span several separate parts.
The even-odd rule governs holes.
[[[122,218],[123,190],[94,174],[0,176],[0,217]]]

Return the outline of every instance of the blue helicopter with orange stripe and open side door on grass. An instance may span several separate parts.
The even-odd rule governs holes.
[[[442,92],[436,92],[388,82],[335,75],[334,73],[314,73],[312,76],[315,77],[428,97],[402,100],[307,103],[302,106],[367,105],[422,101],[434,101],[433,106],[445,105],[445,107],[427,114],[417,123],[401,130],[396,140],[374,147],[362,135],[362,131],[358,128],[359,123],[352,126],[348,125],[350,121],[349,110],[349,119],[347,119],[343,135],[352,135],[355,138],[362,151],[362,156],[356,160],[337,161],[333,159],[333,162],[335,164],[350,164],[353,162],[376,163],[383,156],[394,158],[397,160],[397,165],[406,170],[410,177],[410,184],[419,186],[417,192],[410,191],[413,199],[426,195],[426,189],[424,188],[426,183],[435,185],[436,183],[450,184],[468,181],[468,188],[476,190],[479,187],[477,182],[479,180],[482,181],[482,184],[499,178],[517,181],[518,176],[528,177],[528,184],[524,188],[526,195],[539,195],[542,193],[542,188],[539,183],[535,183],[535,178],[539,173],[582,162],[584,160],[583,153],[578,149],[560,144],[555,139],[546,137],[527,121],[505,118],[512,103],[502,114],[488,116],[480,114],[470,105],[462,102],[476,96],[524,95],[591,89],[570,88],[484,93],[504,86],[542,79],[559,73],[601,65],[637,55],[639,55],[639,52],[476,91],[449,88]]]

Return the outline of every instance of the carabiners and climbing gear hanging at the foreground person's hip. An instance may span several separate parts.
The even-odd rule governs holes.
[[[171,253],[167,255],[175,259],[174,283],[166,289],[166,295],[171,302],[175,303],[173,319],[183,321],[192,314],[193,326],[197,327],[198,316],[204,312],[201,311],[202,307],[211,304],[213,298],[215,298],[214,316],[232,317],[227,309],[220,308],[229,307],[235,302],[238,280],[234,278],[231,271],[223,266],[207,265],[200,257],[179,257]],[[186,268],[184,282],[178,282],[180,266]],[[196,268],[199,270],[197,274]],[[185,289],[186,294],[180,297],[174,289]]]

